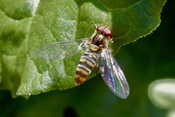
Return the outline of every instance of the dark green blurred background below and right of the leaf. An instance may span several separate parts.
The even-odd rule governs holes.
[[[123,46],[115,56],[130,85],[126,100],[116,97],[98,75],[79,87],[29,99],[13,99],[9,91],[1,90],[0,117],[165,117],[166,111],[152,104],[147,90],[156,79],[175,78],[174,4],[167,1],[161,24],[152,34]]]

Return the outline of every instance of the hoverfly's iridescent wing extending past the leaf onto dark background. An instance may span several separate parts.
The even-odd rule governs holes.
[[[129,95],[128,82],[109,49],[103,49],[99,69],[105,83],[112,92],[120,98],[127,98]]]

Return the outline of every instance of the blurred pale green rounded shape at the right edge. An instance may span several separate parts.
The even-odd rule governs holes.
[[[166,110],[175,108],[175,80],[157,80],[150,84],[149,98],[157,106]]]

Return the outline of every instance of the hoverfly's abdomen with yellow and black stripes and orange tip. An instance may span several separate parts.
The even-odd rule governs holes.
[[[94,66],[96,65],[98,58],[99,53],[97,52],[90,52],[89,49],[84,52],[76,69],[76,84],[81,84],[83,81],[85,81],[85,79],[91,73],[92,68],[94,68]]]

